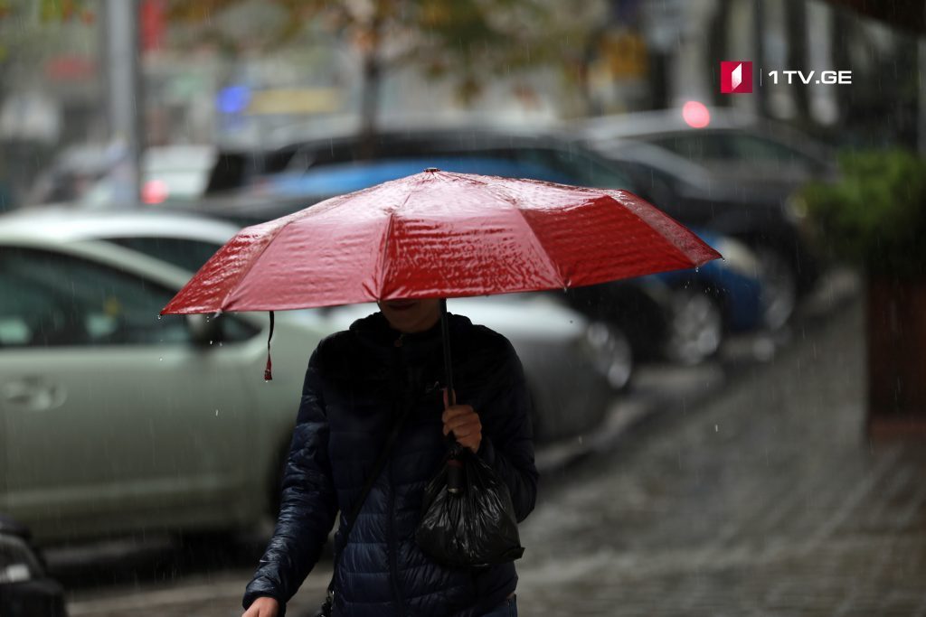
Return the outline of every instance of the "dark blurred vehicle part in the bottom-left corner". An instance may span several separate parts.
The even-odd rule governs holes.
[[[0,514],[0,615],[67,617],[64,589],[45,572],[29,529]]]

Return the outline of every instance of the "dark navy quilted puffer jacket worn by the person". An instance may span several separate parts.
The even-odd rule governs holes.
[[[533,509],[537,470],[528,395],[503,336],[450,315],[457,401],[482,421],[479,455],[507,482],[515,512]],[[480,615],[515,590],[514,563],[449,569],[415,544],[421,496],[446,451],[440,326],[400,335],[376,313],[319,343],[308,364],[273,538],[247,586],[259,596],[293,597],[319,559],[336,512],[351,512],[394,418],[413,406],[391,459],[369,493],[336,573],[334,614]],[[530,549],[530,548],[529,548]]]

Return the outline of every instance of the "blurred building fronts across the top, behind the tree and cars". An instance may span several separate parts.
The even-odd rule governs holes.
[[[214,4],[221,10],[197,20],[178,17],[197,3],[137,0],[142,79],[130,100],[143,102],[132,105],[142,142],[267,145],[279,127],[325,130],[332,118],[363,113],[362,37],[320,18],[290,24],[292,3]],[[0,16],[0,209],[21,202],[69,146],[105,149],[116,134],[106,4],[65,5],[76,12],[49,17],[56,3],[17,0],[9,3],[16,19]],[[514,68],[482,66],[479,55],[469,66],[450,56],[423,62],[432,58],[399,49],[411,61],[381,71],[377,113],[537,123],[698,100],[832,141],[916,145],[917,42],[849,8],[823,0],[595,0],[569,13],[549,0],[548,8],[552,19],[523,26],[537,31]],[[399,35],[381,42],[384,54],[403,44]],[[721,59],[752,60],[762,86],[720,94]],[[767,79],[769,70],[795,69],[848,69],[853,83]]]

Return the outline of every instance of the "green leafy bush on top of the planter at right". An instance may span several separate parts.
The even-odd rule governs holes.
[[[870,272],[926,276],[926,159],[904,150],[845,152],[841,178],[799,197],[822,240]]]

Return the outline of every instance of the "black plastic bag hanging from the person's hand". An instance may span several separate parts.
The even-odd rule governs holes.
[[[524,554],[505,481],[459,444],[424,489],[415,539],[433,561],[456,568],[505,563]]]

